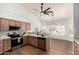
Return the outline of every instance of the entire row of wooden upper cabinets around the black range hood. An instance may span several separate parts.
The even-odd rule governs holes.
[[[30,30],[31,29],[30,23],[0,18],[0,32],[1,31],[9,31],[9,26],[21,27],[21,29],[23,29],[23,30]]]

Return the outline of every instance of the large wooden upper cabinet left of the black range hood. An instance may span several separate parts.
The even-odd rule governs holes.
[[[9,20],[0,18],[0,31],[8,31],[8,30],[9,30]]]

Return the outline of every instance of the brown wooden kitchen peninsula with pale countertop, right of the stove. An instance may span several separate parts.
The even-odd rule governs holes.
[[[48,51],[50,49],[50,38],[40,35],[26,34],[23,36],[23,45],[27,44],[42,49],[44,51]]]

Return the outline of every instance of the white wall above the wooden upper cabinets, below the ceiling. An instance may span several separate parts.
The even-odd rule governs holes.
[[[32,24],[32,30],[34,30],[34,27],[40,29],[41,26],[40,21],[30,12],[25,10],[21,4],[0,3],[0,17],[29,22]]]

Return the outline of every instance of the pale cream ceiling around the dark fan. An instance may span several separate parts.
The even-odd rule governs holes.
[[[38,11],[35,11],[33,9],[37,9],[40,11],[40,3],[22,3],[21,4],[25,10],[32,13],[32,15],[38,17],[38,19],[48,22],[51,21],[51,17],[44,15],[43,17],[40,17],[40,14]],[[52,19],[54,20],[64,20],[64,19],[70,19],[73,14],[73,4],[72,3],[44,3],[44,9],[47,9],[48,7],[51,8],[51,10],[54,11],[54,17]]]

